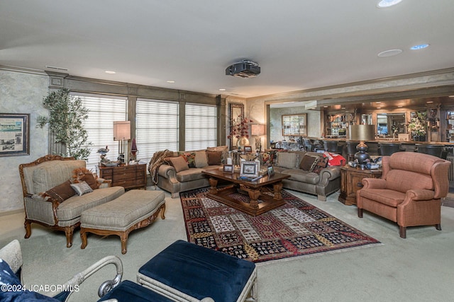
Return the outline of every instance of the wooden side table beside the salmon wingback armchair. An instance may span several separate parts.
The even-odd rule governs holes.
[[[363,178],[381,178],[382,170],[361,170],[350,165],[341,167],[341,194],[338,201],[347,206],[356,204],[356,191],[362,188]]]

